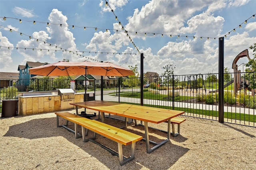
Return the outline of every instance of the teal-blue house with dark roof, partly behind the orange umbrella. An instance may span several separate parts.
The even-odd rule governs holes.
[[[46,65],[48,63],[40,63],[40,62],[31,62],[27,61],[26,65],[19,65],[19,85],[27,86],[30,84],[30,79],[36,75],[29,74],[29,69],[33,67],[38,67],[40,65]]]

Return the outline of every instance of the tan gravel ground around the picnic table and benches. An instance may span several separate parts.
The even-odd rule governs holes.
[[[68,130],[57,128],[54,113],[0,118],[0,169],[256,169],[256,128],[185,118],[181,135],[171,136],[170,142],[150,154],[146,153],[144,141],[136,142],[135,159],[123,166],[117,156],[100,146],[90,141],[84,143]],[[60,121],[65,123],[63,119]],[[106,118],[105,123],[116,127],[124,125],[123,121],[110,118]],[[166,129],[167,124],[149,126]],[[74,124],[69,123],[69,127],[74,129]],[[144,135],[144,128],[133,123],[124,129]],[[156,142],[166,139],[166,135],[159,130],[149,130],[150,140]],[[99,135],[97,141],[118,151],[116,142]],[[123,152],[129,156],[130,146],[124,146]]]

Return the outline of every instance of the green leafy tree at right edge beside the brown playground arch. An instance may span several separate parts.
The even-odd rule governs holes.
[[[256,43],[249,48],[253,50],[254,58],[250,59],[250,61],[245,64],[247,67],[245,71],[248,72],[245,74],[245,78],[249,81],[249,87],[251,89],[256,89]]]

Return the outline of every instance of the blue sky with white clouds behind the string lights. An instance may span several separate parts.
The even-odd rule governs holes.
[[[144,73],[164,73],[168,63],[175,65],[178,75],[217,73],[218,38],[230,31],[224,40],[224,67],[232,72],[234,58],[244,49],[253,57],[249,47],[256,43],[255,0],[107,1],[122,25],[105,0],[0,0],[0,71],[18,72],[18,65],[26,61],[63,59],[137,64],[140,71],[139,51],[145,57]],[[243,58],[237,64],[246,62]]]

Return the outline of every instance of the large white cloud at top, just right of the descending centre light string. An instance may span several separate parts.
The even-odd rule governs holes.
[[[213,3],[212,1],[179,1],[152,0],[135,9],[133,16],[128,18],[126,30],[153,32],[163,34],[183,34],[180,30],[184,21],[189,20],[196,12]],[[197,30],[194,30],[197,31]],[[143,37],[143,34],[141,35]]]

